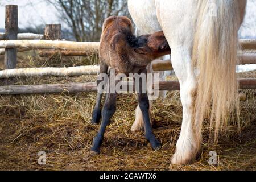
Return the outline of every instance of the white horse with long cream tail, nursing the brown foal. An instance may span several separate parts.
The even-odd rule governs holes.
[[[228,115],[238,110],[237,32],[246,0],[128,0],[128,5],[139,30],[163,30],[170,44],[183,105],[172,164],[191,163],[201,147],[204,118],[210,119],[217,139]],[[136,118],[142,118],[138,110]],[[133,129],[141,126],[142,119],[136,120]]]

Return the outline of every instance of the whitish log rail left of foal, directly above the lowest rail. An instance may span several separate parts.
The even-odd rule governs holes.
[[[0,71],[0,78],[11,77],[34,77],[34,76],[81,76],[81,75],[97,75],[100,68],[94,66],[81,66],[69,68],[23,68],[23,69],[5,69]]]

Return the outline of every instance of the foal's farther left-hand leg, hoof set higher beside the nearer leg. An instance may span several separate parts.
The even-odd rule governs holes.
[[[108,73],[108,65],[106,65],[105,63],[100,63],[100,73]],[[97,79],[97,85],[100,84],[101,81],[103,81],[103,80]],[[92,125],[98,125],[98,123],[100,123],[102,96],[103,96],[102,93],[97,94],[96,105],[95,105],[93,113],[92,113],[92,121],[91,121]]]

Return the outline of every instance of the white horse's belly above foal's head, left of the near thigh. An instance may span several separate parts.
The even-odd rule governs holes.
[[[128,0],[128,9],[140,34],[162,30],[156,17],[155,0]]]

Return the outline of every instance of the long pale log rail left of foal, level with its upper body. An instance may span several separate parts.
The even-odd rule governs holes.
[[[62,51],[97,52],[99,42],[72,42],[58,40],[2,40],[0,48],[59,49]]]

